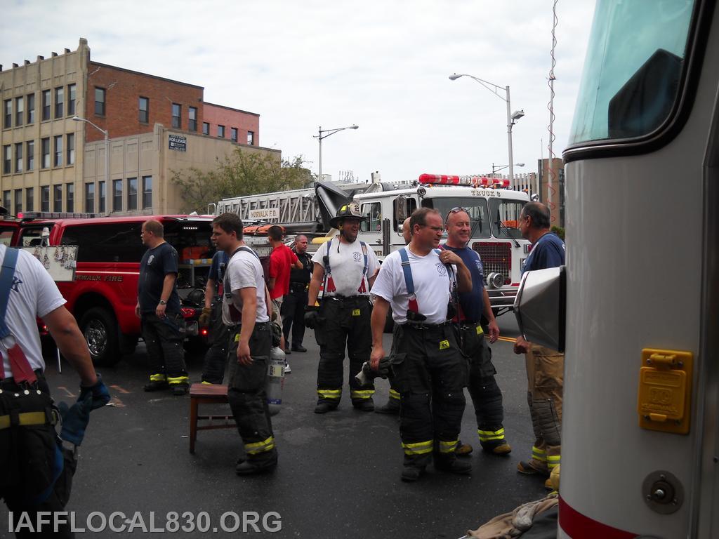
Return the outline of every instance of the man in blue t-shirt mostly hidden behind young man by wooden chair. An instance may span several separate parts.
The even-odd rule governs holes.
[[[205,306],[200,315],[200,326],[209,328],[210,347],[202,364],[202,383],[221,384],[227,361],[229,328],[222,322],[222,280],[227,267],[227,253],[218,251],[212,257],[205,286]]]

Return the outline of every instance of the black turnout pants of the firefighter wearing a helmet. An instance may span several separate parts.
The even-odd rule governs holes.
[[[360,386],[354,375],[362,370],[362,364],[370,361],[372,353],[372,306],[366,296],[351,298],[326,298],[322,300],[320,317],[324,321],[315,329],[319,344],[319,367],[317,368],[317,400],[336,407],[342,397],[342,363],[344,349],[349,356],[349,396],[352,405],[372,402],[375,384]]]

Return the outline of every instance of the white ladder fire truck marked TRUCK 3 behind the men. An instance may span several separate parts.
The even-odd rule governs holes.
[[[216,211],[238,213],[243,220],[262,218],[281,224],[291,234],[306,234],[312,251],[337,234],[329,226],[337,208],[355,201],[367,219],[359,239],[382,260],[404,246],[402,224],[416,208],[435,208],[446,216],[450,209],[462,207],[470,215],[470,247],[482,257],[490,302],[495,314],[501,314],[513,305],[521,263],[530,249],[517,228],[528,200],[528,193],[510,189],[509,180],[503,178],[422,174],[411,183],[375,182],[361,188],[316,182],[309,189],[228,198],[217,204]]]

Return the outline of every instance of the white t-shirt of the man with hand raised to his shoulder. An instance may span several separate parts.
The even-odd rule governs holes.
[[[454,282],[457,267],[452,265],[450,277],[450,272],[447,272],[446,266],[439,261],[439,254],[434,249],[424,257],[414,254],[409,247],[406,249],[419,313],[427,317],[423,323],[443,323],[446,321],[449,303],[450,279]],[[372,286],[372,294],[390,302],[395,323],[406,323],[409,294],[399,251],[390,253],[385,258],[375,285]]]

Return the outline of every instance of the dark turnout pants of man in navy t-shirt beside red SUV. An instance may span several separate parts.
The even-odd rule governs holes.
[[[190,379],[185,368],[185,321],[180,313],[159,318],[155,313],[142,313],[142,338],[147,346],[150,382],[168,382],[170,387],[188,387]]]

